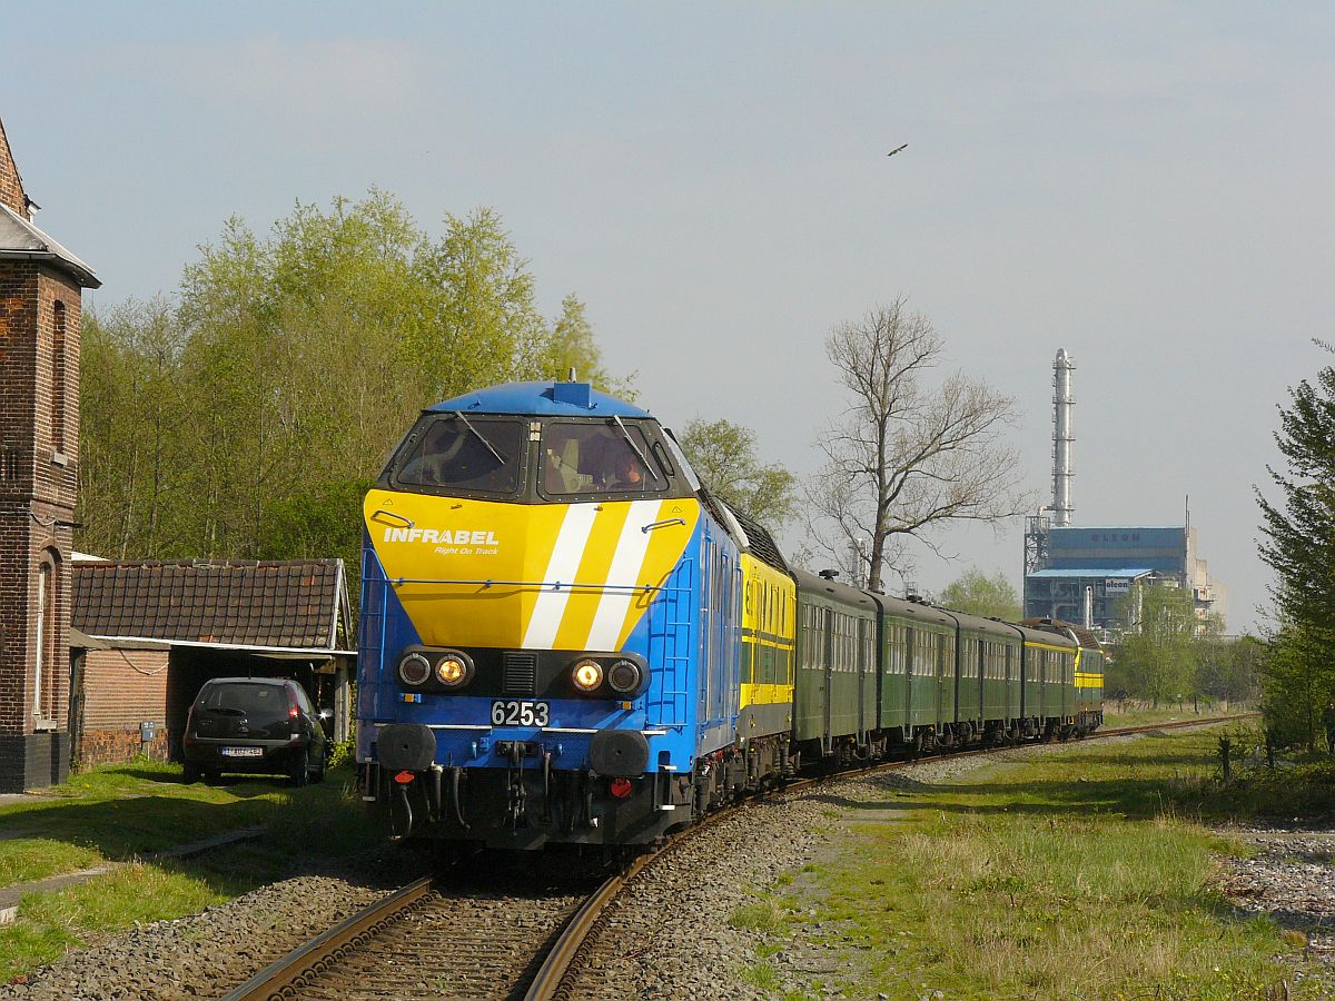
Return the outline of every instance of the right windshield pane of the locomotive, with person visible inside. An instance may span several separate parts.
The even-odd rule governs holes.
[[[645,432],[621,420],[553,422],[542,434],[543,494],[642,494],[668,487]]]

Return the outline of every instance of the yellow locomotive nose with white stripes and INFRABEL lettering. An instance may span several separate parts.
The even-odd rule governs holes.
[[[427,646],[619,650],[681,559],[693,498],[517,505],[372,490],[371,545]]]

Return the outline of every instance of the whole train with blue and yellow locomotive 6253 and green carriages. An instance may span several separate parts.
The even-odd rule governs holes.
[[[1071,630],[836,577],[589,383],[429,407],[363,506],[362,798],[395,838],[635,849],[804,769],[1101,725]]]

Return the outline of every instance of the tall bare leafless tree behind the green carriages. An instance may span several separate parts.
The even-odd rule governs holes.
[[[909,538],[939,551],[933,530],[996,523],[1032,506],[1019,490],[1016,450],[1001,442],[1015,400],[959,372],[926,386],[943,342],[905,304],[900,296],[825,339],[849,407],[820,439],[825,466],[808,490],[820,518],[813,535],[842,566],[854,563],[854,579],[865,565],[872,590],[888,567],[906,573]]]

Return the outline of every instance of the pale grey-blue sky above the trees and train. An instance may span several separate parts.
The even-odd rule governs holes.
[[[1230,631],[1264,622],[1254,484],[1335,340],[1335,5],[73,0],[5,25],[0,119],[95,307],[171,295],[234,215],[375,186],[439,234],[489,206],[642,406],[808,476],[845,407],[825,335],[908,296],[943,378],[1015,398],[1036,506],[1065,348],[1075,523],[1181,525],[1189,498]],[[939,543],[920,587],[1019,590],[1023,526]]]

